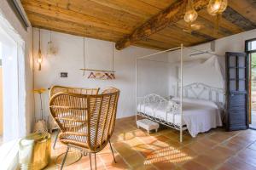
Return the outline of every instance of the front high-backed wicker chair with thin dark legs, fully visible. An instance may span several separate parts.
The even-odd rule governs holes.
[[[53,95],[49,101],[50,113],[61,129],[61,143],[67,144],[67,152],[73,147],[89,153],[90,168],[91,154],[95,156],[96,167],[96,153],[108,143],[113,154],[110,138],[115,125],[118,99],[119,89],[108,88],[97,95],[61,92]]]

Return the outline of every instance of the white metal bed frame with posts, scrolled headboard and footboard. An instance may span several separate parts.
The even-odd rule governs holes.
[[[159,122],[160,124],[163,124],[167,127],[172,127],[174,129],[179,130],[180,132],[180,142],[183,142],[183,131],[187,129],[185,125],[181,126],[183,123],[183,97],[186,98],[194,98],[194,99],[205,99],[203,98],[203,94],[208,94],[208,99],[205,100],[211,100],[214,102],[217,102],[219,105],[224,106],[224,89],[223,88],[213,88],[206,84],[203,84],[201,82],[195,82],[186,86],[183,86],[183,44],[181,44],[180,47],[177,48],[171,48],[167,49],[165,51],[157,52],[154,54],[148,54],[143,57],[139,57],[137,59],[146,59],[150,56],[153,56],[155,54],[162,54],[166,52],[171,52],[175,50],[180,49],[180,80],[179,80],[179,87],[177,88],[177,96],[179,97],[179,104],[174,104],[170,108],[170,111],[167,111],[167,105],[169,100],[161,97],[158,94],[148,94],[144,97],[138,97],[137,98],[137,59],[136,59],[136,121],[137,116],[143,116],[148,118],[149,120],[152,120],[154,122]],[[191,48],[192,49],[192,48]],[[196,50],[199,51],[199,50]],[[218,54],[212,54],[217,55]],[[151,60],[151,59],[148,59]],[[154,60],[151,60],[154,61]],[[192,95],[192,96],[191,96]],[[157,117],[155,116],[155,113],[147,114],[145,111],[138,111],[138,105],[147,104],[149,102],[159,102],[159,105],[155,108],[159,108],[160,105],[166,105],[166,116],[163,117]],[[180,123],[175,124],[172,122],[167,121],[168,114],[176,115],[180,114]]]

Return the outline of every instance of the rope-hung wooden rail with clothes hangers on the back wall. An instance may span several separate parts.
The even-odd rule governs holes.
[[[85,42],[85,38],[84,38]],[[114,46],[112,46],[112,70],[106,71],[106,70],[96,70],[96,69],[88,69],[86,68],[86,62],[85,62],[85,48],[84,48],[84,68],[80,69],[81,71],[84,71],[83,76],[85,76],[85,72],[89,72],[88,79],[100,79],[100,80],[113,80],[115,79],[115,71],[113,71],[113,59],[114,59]]]

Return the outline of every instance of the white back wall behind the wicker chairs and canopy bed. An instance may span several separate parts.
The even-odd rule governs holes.
[[[42,71],[35,71],[35,88],[49,88],[52,85],[64,85],[73,87],[100,87],[105,88],[108,86],[114,86],[121,90],[119,99],[119,111],[118,117],[133,116],[135,114],[135,63],[136,57],[143,56],[145,54],[152,54],[155,50],[147,48],[130,47],[124,50],[114,50],[114,70],[116,71],[116,80],[104,81],[93,80],[83,77],[83,72],[79,71],[83,68],[83,38],[72,35],[62,34],[58,32],[52,32],[52,40],[55,46],[58,48],[56,56],[45,56],[46,45],[49,41],[49,31],[42,30],[42,52],[44,54],[44,63],[42,65]],[[220,63],[224,66],[224,53],[226,51],[242,52],[244,50],[244,41],[250,38],[256,37],[256,30],[247,31],[241,34],[234,35],[232,37],[225,37],[216,40],[215,53],[222,55],[220,57]],[[34,54],[38,53],[38,30],[34,31]],[[208,45],[202,44],[201,46],[193,47],[203,50],[208,48]],[[112,67],[112,50],[113,42],[105,42],[101,40],[86,38],[85,51],[86,51],[86,67],[91,69],[103,69],[109,70]],[[177,52],[178,54],[179,52]],[[163,54],[158,59],[166,59],[166,54]],[[179,56],[179,55],[177,55]],[[201,58],[207,59],[210,55],[203,56]],[[195,58],[198,59],[198,58]],[[175,58],[175,55],[169,54],[168,60],[170,62],[177,62],[179,59]],[[191,58],[185,59],[187,62]],[[139,77],[147,77],[139,84],[141,87],[147,87],[142,94],[149,91],[167,96],[166,94],[174,95],[173,85],[177,83],[172,82],[177,80],[177,65],[172,65],[167,68],[161,63],[151,63],[151,61],[139,61],[144,68],[144,73]],[[37,65],[36,65],[37,67]],[[61,78],[60,72],[68,72],[67,78]],[[168,77],[165,72],[168,72]],[[195,72],[192,72],[195,74]],[[211,78],[209,73],[209,78]],[[204,78],[205,79],[205,78]],[[165,82],[166,80],[166,82]],[[217,80],[218,81],[218,80]],[[162,82],[162,83],[161,83]],[[169,84],[168,84],[169,82]],[[154,89],[151,90],[151,89]],[[169,93],[168,93],[169,91]],[[49,94],[44,94],[44,112],[45,118],[49,115],[48,110]],[[38,96],[36,96],[36,113],[39,117],[39,102]]]

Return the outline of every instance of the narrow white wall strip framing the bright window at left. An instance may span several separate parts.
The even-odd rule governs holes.
[[[9,20],[9,23],[15,28],[20,34],[20,37],[25,42],[25,83],[26,83],[26,96],[23,104],[25,105],[26,111],[26,133],[30,133],[33,126],[33,78],[32,78],[32,28],[28,28],[26,31],[20,24],[20,20],[17,19],[15,13],[9,7],[9,3],[5,0],[0,1],[0,10],[4,14],[5,18]]]

